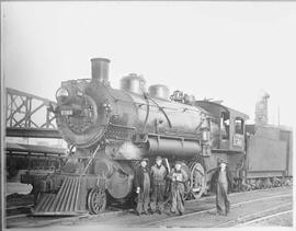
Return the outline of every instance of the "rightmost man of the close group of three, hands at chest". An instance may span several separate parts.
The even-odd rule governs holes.
[[[172,198],[172,207],[171,212],[175,213],[177,211],[179,215],[184,215],[184,184],[187,181],[187,174],[184,170],[181,169],[181,162],[177,161],[174,169],[170,174],[171,178],[171,198]]]

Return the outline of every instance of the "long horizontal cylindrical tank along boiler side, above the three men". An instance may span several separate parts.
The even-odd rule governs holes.
[[[149,138],[146,146],[146,154],[191,158],[202,151],[197,141],[178,140],[178,139],[157,139]]]

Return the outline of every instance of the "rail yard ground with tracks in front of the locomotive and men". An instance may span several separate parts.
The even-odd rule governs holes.
[[[9,228],[57,227],[57,229],[113,229],[113,228],[226,228],[226,227],[292,227],[293,188],[278,187],[230,194],[229,216],[217,216],[215,196],[185,203],[184,216],[163,215],[138,217],[134,210],[107,211],[99,216],[80,218],[34,218],[8,219]]]

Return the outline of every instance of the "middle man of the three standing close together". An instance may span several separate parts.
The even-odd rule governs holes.
[[[161,157],[157,157],[156,164],[151,168],[152,196],[150,207],[152,213],[156,212],[157,207],[160,215],[163,212],[166,176],[167,170],[162,165],[162,159]]]

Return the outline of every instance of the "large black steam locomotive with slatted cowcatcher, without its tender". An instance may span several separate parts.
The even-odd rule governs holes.
[[[143,158],[153,162],[161,155],[168,171],[182,161],[190,176],[189,198],[207,190],[218,159],[227,159],[238,178],[248,178],[248,115],[180,91],[170,95],[161,84],[147,91],[137,74],[113,89],[109,65],[109,59],[91,59],[91,79],[65,81],[56,92],[52,109],[72,151],[35,188],[35,215],[99,213],[110,200],[133,198],[134,170]]]

